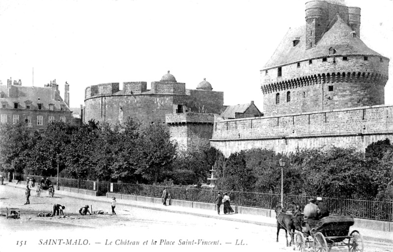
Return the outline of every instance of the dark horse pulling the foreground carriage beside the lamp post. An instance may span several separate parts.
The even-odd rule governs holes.
[[[276,220],[277,220],[277,241],[279,242],[279,232],[280,229],[285,230],[285,239],[286,239],[286,247],[291,246],[293,242],[293,234],[295,233],[295,229],[302,230],[300,216],[294,216],[291,214],[285,214],[282,212],[282,208],[278,205],[275,209],[276,211]],[[300,223],[299,223],[300,222]],[[291,236],[291,241],[288,245],[288,233]]]

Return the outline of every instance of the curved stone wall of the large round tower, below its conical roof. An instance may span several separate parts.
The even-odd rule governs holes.
[[[261,71],[264,114],[311,112],[384,104],[389,59],[327,55]],[[326,58],[326,61],[323,60]],[[289,94],[288,94],[289,92]],[[277,95],[279,94],[279,102]],[[288,100],[289,96],[289,100]]]

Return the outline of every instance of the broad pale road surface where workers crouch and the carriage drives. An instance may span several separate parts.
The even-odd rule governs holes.
[[[19,209],[20,220],[0,218],[0,252],[22,250],[56,251],[116,250],[116,251],[293,251],[285,247],[281,230],[276,243],[276,229],[250,223],[197,217],[187,214],[162,212],[117,204],[116,216],[80,216],[80,207],[88,204],[93,210],[111,212],[108,202],[87,201],[55,194],[40,197],[31,191],[30,204],[24,205],[23,189],[0,186],[0,211]],[[36,217],[40,212],[51,212],[55,203],[65,205],[66,218]],[[168,206],[170,207],[170,206]],[[62,239],[62,241],[59,241]],[[81,240],[78,240],[81,239]],[[72,241],[71,241],[72,240]],[[22,242],[26,241],[26,245]],[[154,244],[154,242],[157,242]],[[46,242],[46,245],[45,245]],[[88,245],[70,245],[88,243]],[[105,245],[110,244],[112,245]],[[139,242],[139,245],[132,245]],[[17,245],[18,243],[18,245]],[[54,244],[56,245],[48,245]],[[58,243],[61,245],[58,246]],[[116,244],[129,245],[116,245]],[[143,245],[143,243],[146,243]],[[160,245],[161,243],[161,245]],[[218,244],[218,245],[216,245]],[[365,252],[393,251],[392,244],[365,243]],[[50,246],[50,247],[48,247]],[[134,246],[134,247],[133,247]],[[137,248],[135,246],[138,246]],[[131,247],[131,248],[130,248]],[[7,248],[7,250],[3,250]],[[332,252],[347,251],[334,248]]]

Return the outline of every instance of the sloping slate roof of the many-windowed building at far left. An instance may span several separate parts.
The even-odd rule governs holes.
[[[0,85],[0,93],[4,92],[4,98],[0,98],[1,102],[8,102],[11,106],[14,102],[18,102],[22,107],[25,102],[31,102],[33,106],[41,103],[44,108],[48,108],[49,104],[54,104],[56,110],[60,109],[60,105],[64,105],[64,111],[70,111],[67,104],[52,87],[26,87],[12,85],[12,96],[8,96],[7,85]]]

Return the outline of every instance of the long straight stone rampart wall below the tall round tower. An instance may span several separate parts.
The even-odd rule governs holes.
[[[385,138],[393,140],[392,105],[215,122],[210,143],[228,157],[252,148],[278,153],[332,146],[365,151]]]

